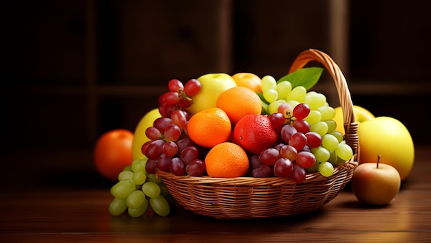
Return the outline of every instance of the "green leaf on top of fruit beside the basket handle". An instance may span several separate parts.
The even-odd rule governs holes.
[[[319,81],[323,70],[322,67],[304,67],[293,73],[288,73],[288,75],[280,78],[277,83],[286,80],[291,82],[292,88],[295,88],[295,86],[304,86],[306,90],[309,90]]]

